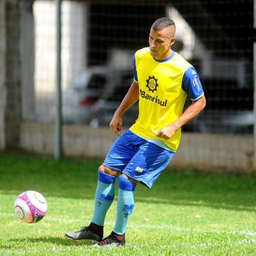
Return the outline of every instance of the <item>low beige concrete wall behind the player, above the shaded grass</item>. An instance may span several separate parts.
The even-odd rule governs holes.
[[[63,127],[63,136],[64,154],[72,157],[103,158],[116,138],[108,128],[66,125]],[[54,125],[22,123],[20,138],[20,147],[26,151],[50,155],[54,153]],[[184,133],[171,164],[253,172],[253,138]]]

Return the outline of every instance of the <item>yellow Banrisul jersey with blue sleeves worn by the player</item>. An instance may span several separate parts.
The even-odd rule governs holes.
[[[150,48],[142,48],[133,57],[134,80],[139,86],[138,118],[130,127],[136,135],[159,146],[176,151],[181,129],[169,138],[158,138],[157,131],[178,120],[185,99],[197,100],[203,95],[199,76],[193,66],[172,51],[163,60],[150,55]]]

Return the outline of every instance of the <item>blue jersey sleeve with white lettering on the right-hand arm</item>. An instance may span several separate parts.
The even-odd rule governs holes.
[[[184,89],[191,101],[196,101],[204,95],[199,75],[194,67],[189,67],[185,71],[182,79],[182,89]]]

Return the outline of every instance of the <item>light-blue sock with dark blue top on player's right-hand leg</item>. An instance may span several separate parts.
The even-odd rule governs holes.
[[[119,195],[118,210],[116,214],[116,225],[114,232],[116,234],[124,234],[127,227],[128,219],[133,212],[135,206],[135,187],[136,184],[120,176],[119,178]]]

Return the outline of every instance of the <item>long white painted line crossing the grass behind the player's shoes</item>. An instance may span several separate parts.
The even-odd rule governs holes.
[[[1,213],[0,216],[12,216],[16,217],[15,214],[7,214]],[[59,217],[45,217],[46,221],[57,221],[63,223],[89,223],[89,219],[66,219],[66,218],[59,218]],[[114,222],[106,221],[106,225],[114,226]],[[256,231],[249,230],[249,231],[221,231],[218,229],[212,230],[205,230],[205,229],[191,229],[191,228],[184,228],[184,227],[175,227],[172,225],[152,225],[152,224],[133,224],[130,223],[129,227],[138,228],[138,229],[161,229],[165,231],[180,231],[180,232],[197,232],[197,233],[215,233],[215,234],[239,234],[244,236],[256,236]]]

